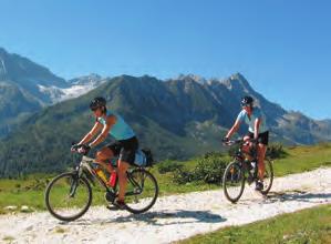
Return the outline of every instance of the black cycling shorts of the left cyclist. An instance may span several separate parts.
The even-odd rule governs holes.
[[[118,156],[118,160],[127,162],[132,165],[134,164],[135,153],[139,146],[136,136],[127,140],[120,140],[106,145],[113,151],[114,156]]]

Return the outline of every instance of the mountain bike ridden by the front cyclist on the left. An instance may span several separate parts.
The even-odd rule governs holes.
[[[92,185],[95,181],[104,190],[107,203],[114,204],[118,192],[118,180],[110,186],[106,179],[100,176],[99,164],[85,153],[74,150],[80,154],[79,165],[70,172],[55,176],[46,186],[45,205],[49,212],[61,221],[74,221],[85,214],[92,204]],[[151,154],[152,155],[152,154]],[[113,166],[118,159],[113,160]],[[148,164],[148,166],[152,166]],[[116,170],[116,169],[115,169]],[[156,202],[158,196],[158,185],[154,175],[144,166],[135,166],[126,172],[127,186],[125,192],[125,210],[139,214],[148,211]]]

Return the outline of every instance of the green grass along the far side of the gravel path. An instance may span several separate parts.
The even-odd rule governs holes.
[[[331,166],[331,144],[319,144],[313,146],[297,146],[286,150],[288,156],[276,160],[273,170],[276,176],[290,173],[300,173],[325,165]],[[227,157],[230,161],[230,157]],[[198,159],[183,162],[184,169],[193,170]],[[152,169],[159,186],[159,195],[170,195],[194,191],[206,191],[219,189],[218,185],[193,182],[178,185],[173,183],[173,174],[159,174],[157,166]],[[45,210],[44,189],[54,175],[33,174],[25,180],[0,180],[0,214],[7,213],[4,206],[15,205],[18,210],[28,205],[35,210]],[[105,204],[104,191],[101,187],[93,189],[93,204]]]

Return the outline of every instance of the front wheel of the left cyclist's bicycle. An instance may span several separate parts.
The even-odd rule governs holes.
[[[45,190],[46,207],[60,221],[74,221],[81,217],[91,203],[91,185],[85,177],[77,177],[75,172],[60,174]]]

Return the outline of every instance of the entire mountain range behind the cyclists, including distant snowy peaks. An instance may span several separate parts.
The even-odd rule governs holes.
[[[100,95],[107,100],[111,111],[133,126],[141,146],[151,148],[159,160],[183,160],[220,150],[220,139],[247,94],[263,111],[270,141],[313,144],[331,140],[330,120],[317,121],[286,111],[256,92],[240,73],[224,80],[197,75],[165,81],[148,75],[103,79],[92,74],[64,81],[25,58],[7,55],[10,59],[0,55],[0,128],[4,131],[0,141],[1,176],[58,172],[71,165],[71,142],[79,141],[93,125],[89,103]],[[24,74],[29,79],[24,80]],[[75,93],[77,85],[82,89]],[[12,128],[6,131],[8,126]],[[242,126],[240,132],[245,130]]]

